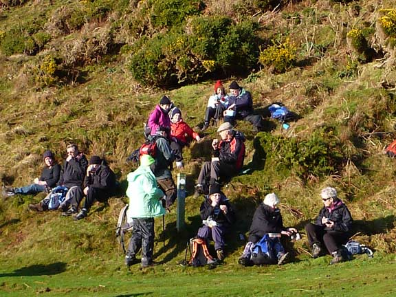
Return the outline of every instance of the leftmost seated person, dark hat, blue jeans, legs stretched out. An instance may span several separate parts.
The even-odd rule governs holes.
[[[43,162],[45,164],[45,167],[41,172],[41,176],[36,177],[33,184],[20,188],[8,188],[5,190],[5,195],[30,195],[37,194],[39,192],[50,192],[59,180],[61,165],[56,163],[52,151],[45,151],[43,153]]]

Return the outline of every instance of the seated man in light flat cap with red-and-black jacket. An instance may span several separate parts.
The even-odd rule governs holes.
[[[194,197],[208,193],[208,185],[219,183],[220,179],[228,179],[239,173],[245,159],[245,136],[232,128],[232,124],[224,122],[217,129],[221,141],[212,141],[212,161],[204,162],[195,186]]]

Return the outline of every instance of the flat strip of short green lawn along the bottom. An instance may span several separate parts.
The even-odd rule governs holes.
[[[127,271],[122,257],[78,267],[67,263],[31,265],[1,259],[1,296],[396,296],[395,255],[356,256],[328,265],[330,257],[279,266],[240,267],[232,261],[208,267],[182,267],[177,260]]]

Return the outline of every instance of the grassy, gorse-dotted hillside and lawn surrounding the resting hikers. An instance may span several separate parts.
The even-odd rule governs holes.
[[[237,126],[247,137],[245,168],[250,172],[234,177],[224,189],[239,219],[228,238],[225,265],[211,272],[176,265],[184,259],[186,240],[200,225],[201,198],[193,199],[192,192],[201,162],[209,157],[210,141],[216,137],[213,126],[203,133],[201,142],[192,143],[184,152],[186,230],[177,234],[175,208],[166,216],[165,232],[162,221],[156,221],[155,256],[162,265],[148,272],[133,267],[126,274],[114,238],[118,212],[127,201],[122,193],[111,198],[108,207],[94,206],[89,217],[78,222],[58,212],[29,212],[28,204],[43,195],[1,198],[2,289],[10,296],[21,292],[31,296],[47,292],[47,287],[50,294],[70,296],[191,294],[193,287],[184,287],[190,277],[204,283],[213,272],[214,288],[230,287],[234,281],[235,287],[240,286],[230,287],[229,293],[221,289],[222,295],[246,295],[251,285],[246,280],[259,275],[266,281],[254,292],[256,296],[274,295],[267,288],[275,284],[272,276],[279,279],[276,285],[285,287],[284,296],[361,296],[365,284],[350,284],[363,283],[366,278],[360,275],[372,271],[371,277],[378,280],[377,285],[375,280],[368,281],[373,296],[394,294],[388,285],[394,280],[382,273],[393,274],[396,252],[394,159],[383,154],[396,137],[393,1],[225,0],[203,1],[204,5],[188,1],[191,7],[184,5],[177,12],[166,6],[168,2],[177,3],[0,0],[0,178],[6,186],[28,184],[41,172],[45,149],[54,151],[61,161],[67,144],[76,142],[87,155],[106,157],[125,187],[126,175],[135,168],[126,157],[142,142],[143,123],[163,94],[195,127],[203,120],[214,81],[221,78],[228,86],[236,79],[252,92],[255,108],[265,118],[265,131],[253,133],[245,122]],[[170,16],[171,12],[177,14]],[[199,47],[209,48],[214,41],[206,35],[205,42],[198,39],[193,29],[199,26],[194,24],[219,15],[233,23],[207,25],[230,30],[232,36],[240,34],[241,28],[245,33],[256,28],[252,43],[243,47],[251,45],[255,50],[236,52],[248,59],[247,69],[230,67],[243,63],[235,55],[228,60],[210,56]],[[243,21],[256,25],[249,27]],[[180,48],[170,50],[173,38],[191,42],[182,48],[190,50],[188,59],[199,67]],[[195,38],[201,43],[194,47]],[[156,39],[164,45],[150,43]],[[146,50],[144,58],[163,51],[164,63],[153,60],[159,67],[153,68],[154,76],[144,72],[151,66],[149,61],[146,68],[136,66],[140,50]],[[212,68],[208,61],[213,61]],[[283,102],[298,113],[289,129],[267,117],[265,107],[272,102]],[[178,172],[174,171],[175,176]],[[254,209],[268,192],[281,197],[285,225],[303,230],[317,214],[322,204],[318,194],[325,186],[337,188],[355,219],[355,239],[373,248],[375,259],[361,256],[342,263],[340,270],[325,267],[329,257],[310,260],[303,240],[286,243],[293,251],[293,264],[252,269],[236,264],[243,250],[238,233],[248,231]],[[162,286],[173,283],[175,274],[183,286],[165,292],[155,285],[158,276],[164,279]],[[294,279],[296,275],[301,277]],[[107,284],[91,281],[91,276]],[[119,276],[121,289],[112,283]],[[129,283],[131,278],[136,283]],[[347,278],[349,285],[342,287],[340,278]],[[314,289],[307,287],[307,280],[312,279]],[[334,279],[336,288],[329,286]]]

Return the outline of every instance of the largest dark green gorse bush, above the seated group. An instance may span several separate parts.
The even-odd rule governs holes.
[[[131,72],[144,85],[168,87],[206,74],[236,74],[256,64],[256,23],[195,17],[187,33],[171,30],[140,39],[132,48]]]

